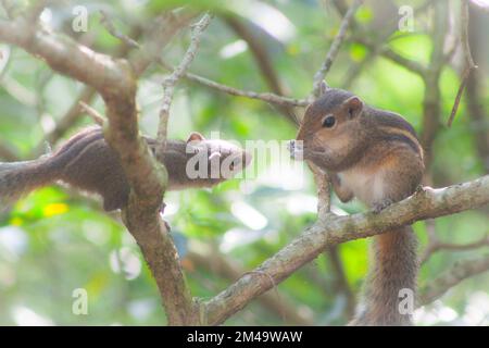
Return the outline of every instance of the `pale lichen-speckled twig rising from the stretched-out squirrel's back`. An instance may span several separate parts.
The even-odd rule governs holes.
[[[158,126],[159,147],[156,149],[156,154],[159,157],[163,156],[165,148],[170,107],[172,104],[175,86],[196,58],[202,33],[206,29],[209,24],[211,24],[212,17],[211,14],[204,14],[197,24],[191,26],[191,38],[187,52],[185,52],[181,62],[175,67],[173,73],[163,80],[163,102],[160,109],[160,124]]]

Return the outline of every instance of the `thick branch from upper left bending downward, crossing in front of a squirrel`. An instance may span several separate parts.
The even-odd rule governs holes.
[[[193,306],[178,256],[159,215],[166,178],[138,135],[136,79],[131,65],[67,37],[43,32],[22,16],[13,22],[0,21],[0,40],[41,57],[54,71],[90,85],[103,97],[109,119],[105,138],[120,156],[131,187],[123,220],[153,272],[168,322],[195,323]]]

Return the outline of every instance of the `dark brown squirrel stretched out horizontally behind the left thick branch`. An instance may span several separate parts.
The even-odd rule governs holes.
[[[154,154],[156,140],[145,139]],[[200,158],[196,160],[196,156]],[[200,175],[188,175],[191,159],[190,169]],[[201,159],[208,167],[199,169]],[[191,133],[187,141],[167,140],[161,161],[168,173],[167,189],[175,190],[214,186],[243,170],[251,156],[228,141]],[[223,164],[226,170],[222,170]],[[22,195],[57,181],[99,194],[105,211],[121,209],[128,200],[129,184],[116,152],[105,142],[100,127],[89,127],[51,154],[33,161],[0,163],[0,211]]]

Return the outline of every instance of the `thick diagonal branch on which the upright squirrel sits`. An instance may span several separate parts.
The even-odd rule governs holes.
[[[271,289],[269,275],[277,284],[312,261],[326,247],[348,240],[374,236],[415,221],[454,214],[489,203],[489,176],[449,186],[427,189],[375,214],[330,215],[318,220],[300,237],[266,260],[256,272],[248,273],[208,301],[209,324],[220,324],[242,309],[256,296]]]

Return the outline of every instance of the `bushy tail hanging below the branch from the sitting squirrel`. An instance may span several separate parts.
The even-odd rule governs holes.
[[[411,226],[378,235],[364,301],[350,325],[412,325],[415,308],[416,236]]]

